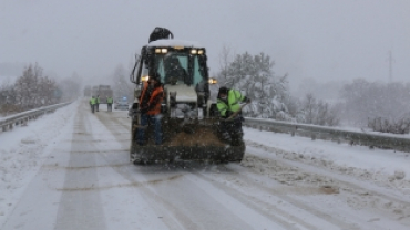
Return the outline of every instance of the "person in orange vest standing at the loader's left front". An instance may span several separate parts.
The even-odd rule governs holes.
[[[150,75],[148,82],[144,82],[140,96],[141,126],[137,129],[139,145],[145,144],[145,129],[148,122],[154,125],[155,144],[162,144],[161,103],[163,98],[164,92],[158,74]]]

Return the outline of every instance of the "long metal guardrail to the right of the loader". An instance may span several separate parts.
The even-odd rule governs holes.
[[[245,117],[245,126],[275,133],[286,133],[291,136],[305,136],[311,139],[326,139],[350,145],[363,145],[370,148],[378,147],[410,153],[410,138],[397,135],[375,134],[365,132],[344,130],[332,127],[295,124],[274,119]]]

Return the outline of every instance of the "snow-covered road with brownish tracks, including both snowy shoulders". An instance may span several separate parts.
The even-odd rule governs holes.
[[[134,166],[130,123],[78,101],[0,133],[1,229],[410,229],[409,154],[245,128],[240,164]]]

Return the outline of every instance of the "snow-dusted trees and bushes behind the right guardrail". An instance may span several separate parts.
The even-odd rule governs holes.
[[[229,49],[223,48],[219,65],[218,86],[239,90],[253,100],[243,108],[244,116],[324,126],[344,123],[377,132],[409,133],[410,84],[357,79],[340,87],[337,103],[329,103],[316,98],[312,92],[304,97],[293,96],[288,75],[276,75],[275,62],[264,53],[232,55]]]

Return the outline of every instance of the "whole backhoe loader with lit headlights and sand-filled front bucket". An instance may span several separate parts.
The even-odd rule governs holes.
[[[154,34],[157,33],[157,34]],[[171,34],[171,39],[170,39]],[[174,160],[240,161],[245,154],[242,130],[222,137],[219,113],[209,98],[214,79],[208,76],[206,50],[196,42],[174,40],[166,29],[155,28],[148,44],[136,56],[130,75],[135,84],[130,108],[130,161],[147,164]],[[141,125],[140,95],[144,82],[155,73],[163,87],[161,105],[162,144],[154,142],[154,124]],[[144,129],[144,139],[137,142]]]

